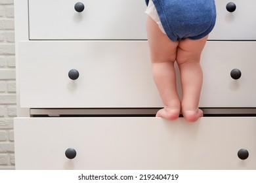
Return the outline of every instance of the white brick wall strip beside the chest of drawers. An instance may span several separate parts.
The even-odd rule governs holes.
[[[13,0],[0,0],[0,169],[14,169],[16,116]]]

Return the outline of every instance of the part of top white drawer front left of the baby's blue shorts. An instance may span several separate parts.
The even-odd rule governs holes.
[[[30,0],[30,39],[146,39],[143,0],[81,0],[82,12],[77,2]]]

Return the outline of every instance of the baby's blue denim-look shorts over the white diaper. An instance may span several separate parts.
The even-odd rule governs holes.
[[[146,0],[146,4],[148,5]],[[161,26],[171,41],[202,39],[216,22],[214,0],[152,0]]]

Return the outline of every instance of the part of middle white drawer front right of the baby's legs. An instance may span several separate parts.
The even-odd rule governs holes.
[[[207,42],[200,107],[256,107],[255,48],[253,41]]]

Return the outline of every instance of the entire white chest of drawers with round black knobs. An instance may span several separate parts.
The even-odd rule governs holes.
[[[254,1],[216,0],[195,124],[153,117],[144,1],[81,3],[14,2],[16,169],[256,168]]]

